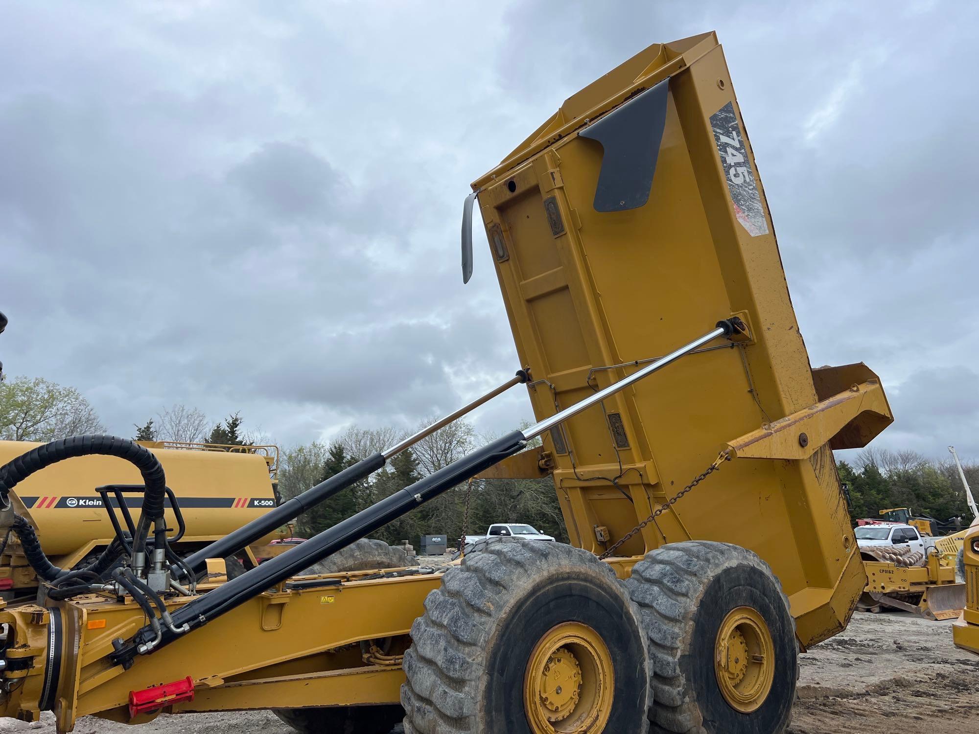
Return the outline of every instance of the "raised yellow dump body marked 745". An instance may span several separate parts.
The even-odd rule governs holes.
[[[585,135],[661,83],[648,201],[640,192],[638,206],[615,210],[607,196],[599,202],[599,178],[623,152]],[[811,370],[716,35],[637,54],[568,99],[473,189],[537,419],[720,319],[738,316],[750,331],[545,436],[571,542],[602,553],[736,447],[732,455],[757,458],[725,463],[618,555],[687,539],[736,543],[778,575],[803,644],[840,630],[865,576],[830,448],[862,446],[892,419],[863,365]],[[830,414],[855,396],[862,418],[832,428]]]

